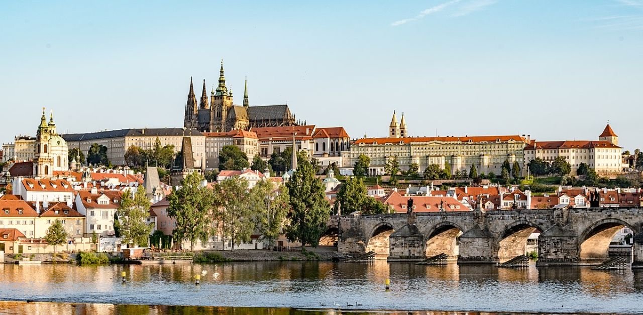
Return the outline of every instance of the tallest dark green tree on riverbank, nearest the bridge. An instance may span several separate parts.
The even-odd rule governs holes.
[[[319,243],[330,217],[330,207],[325,200],[325,187],[315,177],[314,166],[307,155],[300,153],[297,163],[297,170],[286,183],[291,206],[286,236],[290,240],[300,241],[303,251],[305,244],[317,246]]]

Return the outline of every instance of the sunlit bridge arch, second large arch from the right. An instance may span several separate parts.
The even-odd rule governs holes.
[[[518,220],[503,228],[498,234],[498,261],[506,262],[516,256],[526,255],[529,251],[538,251],[538,243],[528,244],[533,233],[542,233],[541,226],[527,220]],[[537,241],[536,241],[537,242]]]

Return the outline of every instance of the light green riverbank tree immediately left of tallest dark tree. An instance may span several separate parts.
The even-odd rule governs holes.
[[[268,247],[273,248],[275,239],[284,227],[285,216],[289,210],[288,189],[284,185],[275,185],[269,180],[260,180],[250,191],[251,204],[255,214],[255,227]]]

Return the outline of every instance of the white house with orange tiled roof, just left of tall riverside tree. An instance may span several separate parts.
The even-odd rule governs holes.
[[[85,216],[87,236],[93,233],[102,236],[114,235],[114,213],[118,210],[120,200],[120,191],[78,191],[76,208]]]

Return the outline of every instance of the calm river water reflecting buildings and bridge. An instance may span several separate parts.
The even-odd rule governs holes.
[[[120,277],[122,271],[127,273],[125,284]],[[195,275],[201,275],[200,285],[194,284]],[[386,278],[391,281],[389,291],[385,291]],[[323,311],[327,309],[641,313],[643,271],[535,266],[510,269],[457,264],[416,266],[385,261],[163,266],[0,264],[0,300],[65,302],[39,304],[56,307],[80,307],[69,303],[210,305],[230,307],[221,309],[231,310],[230,314],[250,314],[239,307],[275,308],[271,314],[298,314],[295,309],[321,309],[319,314],[340,314]],[[0,314],[3,311],[10,314],[7,309],[31,314],[33,305],[37,304],[0,303]],[[128,313],[119,313],[112,307],[116,311],[105,314]],[[286,311],[278,311],[280,308]],[[159,310],[149,313],[187,314]]]

